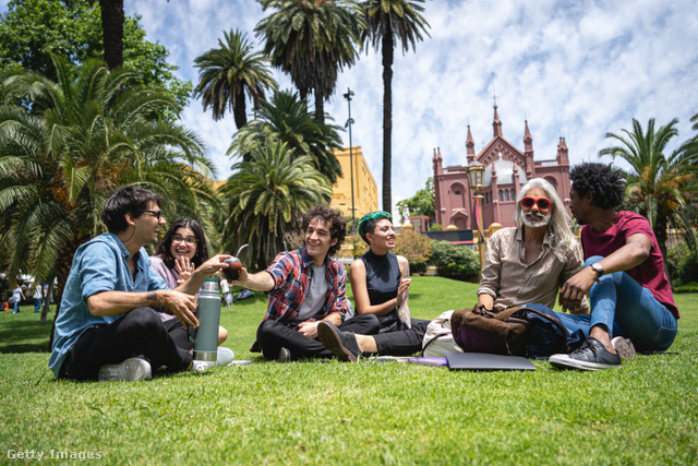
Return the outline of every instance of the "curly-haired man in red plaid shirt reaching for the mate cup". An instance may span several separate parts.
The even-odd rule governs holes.
[[[281,362],[300,358],[332,358],[317,339],[317,324],[332,322],[345,332],[375,334],[380,330],[374,314],[347,319],[347,271],[330,259],[339,251],[347,234],[341,214],[325,206],[311,208],[302,220],[305,246],[279,253],[272,265],[256,274],[240,271],[233,285],[266,291],[269,303],[257,328],[252,351]],[[344,321],[344,323],[342,323]]]

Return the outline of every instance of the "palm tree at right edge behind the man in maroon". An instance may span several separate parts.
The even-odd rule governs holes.
[[[654,131],[652,118],[645,133],[640,122],[633,119],[633,131],[623,130],[625,136],[606,133],[606,138],[619,141],[619,146],[599,152],[600,156],[619,157],[633,167],[626,186],[627,208],[647,217],[664,258],[670,226],[684,234],[693,250],[697,243],[686,207],[696,202],[697,170],[690,163],[698,154],[686,143],[669,157],[664,155],[669,142],[678,135],[677,123],[674,119]]]

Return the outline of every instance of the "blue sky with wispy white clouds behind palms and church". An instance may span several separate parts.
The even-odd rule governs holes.
[[[678,119],[670,148],[696,134],[698,113],[698,9],[693,0],[426,0],[424,40],[393,65],[393,203],[411,198],[433,176],[438,147],[444,166],[466,165],[467,126],[476,153],[492,139],[496,98],[504,138],[524,147],[524,122],[535,159],[554,158],[561,136],[570,164],[602,160],[615,145],[607,132],[647,128]],[[7,1],[0,2],[0,11]],[[194,59],[218,47],[224,32],[240,29],[256,44],[264,16],[253,0],[124,0],[128,15],[142,16],[147,39],[170,51],[180,79],[197,83]],[[275,71],[280,88],[290,80]],[[361,146],[382,192],[383,79],[380,52],[368,48],[345,69],[325,104],[334,123],[345,126],[351,88],[352,145]],[[210,109],[191,100],[183,124],[205,141],[218,179],[231,175],[226,156],[236,126],[232,116],[214,121]],[[345,146],[349,134],[342,132]],[[619,164],[623,165],[623,164]]]

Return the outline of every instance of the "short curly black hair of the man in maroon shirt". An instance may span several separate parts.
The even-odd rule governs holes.
[[[569,180],[580,196],[591,191],[597,207],[614,208],[625,199],[623,174],[611,165],[582,162],[569,169]]]

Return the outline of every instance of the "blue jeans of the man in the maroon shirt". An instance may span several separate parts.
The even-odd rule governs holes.
[[[585,266],[603,258],[587,259]],[[635,282],[625,272],[603,275],[600,284],[589,290],[591,314],[564,314],[556,312],[570,332],[601,325],[610,335],[633,340],[640,351],[663,351],[676,337],[676,318],[659,302],[652,292]]]

